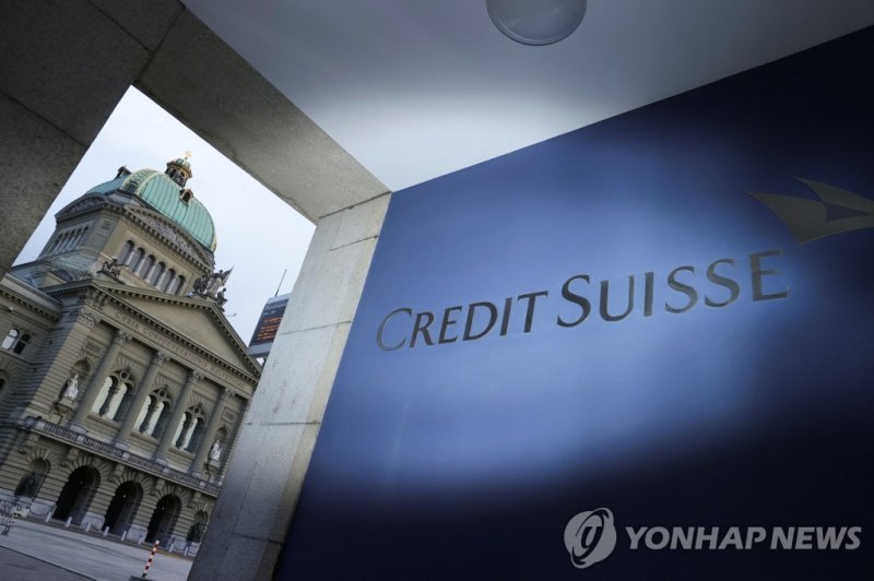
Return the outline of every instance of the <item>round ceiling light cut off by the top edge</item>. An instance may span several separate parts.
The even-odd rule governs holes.
[[[492,22],[524,45],[551,45],[577,29],[586,0],[486,0]]]

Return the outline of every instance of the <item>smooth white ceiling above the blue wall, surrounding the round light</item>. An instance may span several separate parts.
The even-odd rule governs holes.
[[[552,46],[485,0],[184,0],[392,190],[874,24],[874,0],[589,0]]]

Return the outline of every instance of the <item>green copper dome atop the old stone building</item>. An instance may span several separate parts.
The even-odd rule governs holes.
[[[185,228],[200,244],[215,250],[215,226],[212,217],[191,190],[180,188],[167,174],[155,169],[140,169],[129,176],[116,178],[92,189],[99,191],[118,189],[138,195],[154,210],[157,210]]]

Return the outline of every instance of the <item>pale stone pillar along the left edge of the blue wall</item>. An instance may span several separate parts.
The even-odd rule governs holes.
[[[271,577],[388,201],[318,222],[190,580]]]

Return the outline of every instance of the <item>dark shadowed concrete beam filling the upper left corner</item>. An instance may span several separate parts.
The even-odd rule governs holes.
[[[0,276],[151,57],[105,3],[0,2]],[[169,28],[173,7],[150,7],[152,36]]]

